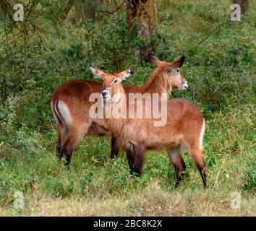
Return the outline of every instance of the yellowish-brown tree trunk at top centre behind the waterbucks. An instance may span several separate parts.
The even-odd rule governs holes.
[[[127,27],[128,31],[135,23],[139,23],[138,28],[142,37],[147,39],[155,32],[158,25],[157,0],[128,0],[127,1]],[[145,58],[152,52],[152,44],[140,48],[140,58]]]

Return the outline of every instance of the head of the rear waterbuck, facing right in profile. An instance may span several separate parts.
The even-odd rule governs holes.
[[[185,57],[182,56],[174,62],[165,62],[160,61],[152,53],[148,54],[148,59],[151,64],[154,64],[156,67],[155,74],[158,77],[161,77],[164,82],[168,83],[170,90],[186,90],[188,86],[187,80],[180,73],[180,68],[184,64]]]

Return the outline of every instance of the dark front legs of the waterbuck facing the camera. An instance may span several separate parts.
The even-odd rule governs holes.
[[[142,175],[145,154],[144,147],[142,145],[138,145],[137,147],[134,145],[129,145],[129,148],[125,149],[125,152],[127,154],[131,174],[136,174],[138,176]]]

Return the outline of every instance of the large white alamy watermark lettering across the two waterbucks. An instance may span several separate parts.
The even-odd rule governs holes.
[[[111,95],[111,88],[108,89]],[[103,100],[100,93],[90,95],[90,118],[145,118],[153,119],[154,126],[165,126],[167,123],[167,93],[129,93],[128,98],[121,92]],[[161,102],[160,102],[161,101]]]

